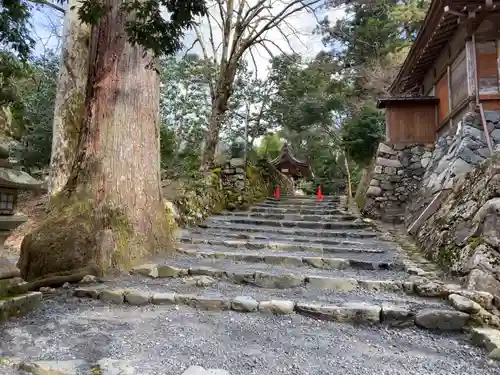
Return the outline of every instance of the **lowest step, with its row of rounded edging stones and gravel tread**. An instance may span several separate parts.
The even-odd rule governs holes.
[[[368,292],[354,298],[323,294],[316,299],[293,295],[289,291],[260,294],[262,290],[257,292],[248,287],[236,288],[225,282],[210,284],[213,280],[207,277],[193,277],[185,281],[171,280],[168,285],[164,285],[129,278],[128,283],[121,279],[96,287],[76,288],[73,295],[100,299],[111,304],[187,305],[201,310],[234,310],[241,313],[297,313],[342,323],[383,323],[392,327],[416,325],[447,331],[461,330],[469,321],[468,314],[443,303],[412,300],[403,296],[399,299],[389,296],[385,300],[380,295]]]

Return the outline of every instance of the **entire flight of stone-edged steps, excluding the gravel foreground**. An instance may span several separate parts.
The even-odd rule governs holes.
[[[215,215],[182,231],[174,259],[75,295],[443,331],[467,326],[470,314],[445,300],[481,296],[432,280],[371,222],[340,207],[340,197],[283,197]]]

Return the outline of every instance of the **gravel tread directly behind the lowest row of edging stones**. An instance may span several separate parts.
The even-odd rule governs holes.
[[[396,305],[410,306],[413,310],[421,308],[449,308],[436,298],[409,296],[403,293],[370,292],[355,290],[351,292],[334,292],[328,290],[298,287],[293,289],[258,288],[251,285],[238,285],[223,280],[216,280],[210,286],[199,287],[188,285],[189,279],[151,279],[141,276],[123,276],[120,279],[107,281],[105,285],[116,289],[134,289],[151,292],[176,292],[218,297],[249,296],[258,301],[271,299],[288,299],[296,302],[320,302],[323,304],[342,304],[345,302],[367,302],[380,304],[390,302]]]

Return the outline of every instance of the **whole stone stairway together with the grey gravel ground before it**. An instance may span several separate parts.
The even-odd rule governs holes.
[[[113,358],[140,375],[500,373],[496,331],[472,330],[487,350],[469,340],[472,324],[500,324],[493,297],[439,281],[342,206],[283,197],[212,216],[174,259],[52,291],[8,322],[0,358]]]

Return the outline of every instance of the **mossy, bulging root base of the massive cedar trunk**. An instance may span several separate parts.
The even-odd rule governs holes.
[[[84,268],[95,276],[129,269],[152,252],[173,248],[168,215],[154,224],[148,233],[137,233],[111,202],[96,202],[85,192],[62,192],[21,244],[21,275],[31,281]]]

